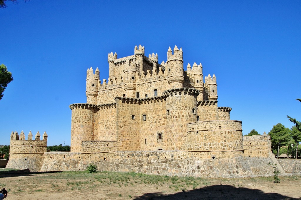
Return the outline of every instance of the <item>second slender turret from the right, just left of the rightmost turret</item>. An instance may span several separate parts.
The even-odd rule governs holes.
[[[198,101],[203,101],[203,93],[205,92],[204,89],[204,82],[203,82],[203,66],[197,65],[196,63],[193,64],[191,73],[194,75],[194,87],[200,91],[200,95],[197,97]]]

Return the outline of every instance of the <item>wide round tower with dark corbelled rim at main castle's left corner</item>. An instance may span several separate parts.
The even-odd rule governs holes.
[[[76,103],[71,109],[71,152],[81,152],[82,141],[94,139],[94,112],[96,105]]]

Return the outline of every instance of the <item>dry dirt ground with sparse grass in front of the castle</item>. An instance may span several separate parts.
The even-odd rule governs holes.
[[[179,178],[131,173],[0,174],[9,199],[301,199],[301,176]]]

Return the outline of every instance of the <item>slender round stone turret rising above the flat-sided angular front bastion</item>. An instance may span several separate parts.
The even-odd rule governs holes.
[[[124,91],[126,92],[126,97],[136,98],[136,70],[137,64],[135,58],[133,59],[132,64],[130,64],[129,59],[126,60],[124,67]]]

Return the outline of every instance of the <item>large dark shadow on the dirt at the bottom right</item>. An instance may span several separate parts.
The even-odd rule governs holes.
[[[212,185],[191,191],[175,194],[146,193],[142,196],[135,196],[135,200],[156,200],[156,199],[296,199],[278,193],[264,193],[261,190],[231,185]],[[299,199],[299,198],[298,198]]]

